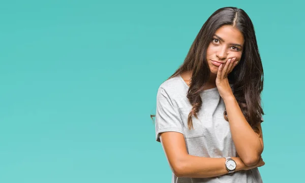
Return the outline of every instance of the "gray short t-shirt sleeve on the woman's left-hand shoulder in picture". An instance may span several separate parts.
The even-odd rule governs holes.
[[[170,97],[163,88],[158,89],[156,107],[156,140],[160,142],[160,133],[174,131],[183,134],[182,120],[178,108],[173,106]]]

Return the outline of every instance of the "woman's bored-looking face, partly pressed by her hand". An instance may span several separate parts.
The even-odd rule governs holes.
[[[220,27],[206,50],[206,60],[211,73],[217,74],[219,65],[230,58],[236,57],[235,61],[239,61],[244,42],[243,35],[237,28],[232,25]]]

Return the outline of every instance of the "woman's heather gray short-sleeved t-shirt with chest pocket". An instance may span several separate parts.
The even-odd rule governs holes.
[[[194,129],[191,130],[187,123],[192,108],[186,97],[188,89],[189,86],[180,75],[160,85],[155,118],[156,140],[160,142],[162,132],[175,131],[184,134],[190,155],[210,158],[237,157],[229,123],[223,115],[225,104],[217,88],[201,92],[202,106],[197,114],[199,120],[192,116]],[[172,183],[195,182],[260,183],[262,179],[258,168],[210,178],[176,177],[172,173]]]

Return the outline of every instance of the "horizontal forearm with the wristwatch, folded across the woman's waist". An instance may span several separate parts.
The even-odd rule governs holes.
[[[235,171],[246,167],[240,158],[231,157],[236,162]],[[174,167],[174,174],[178,177],[206,178],[215,177],[228,173],[225,168],[225,158],[205,158],[187,155],[181,159],[177,167]]]

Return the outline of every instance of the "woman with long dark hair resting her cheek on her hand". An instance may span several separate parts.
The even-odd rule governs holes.
[[[156,140],[172,182],[262,182],[263,68],[252,21],[226,7],[158,89]]]

